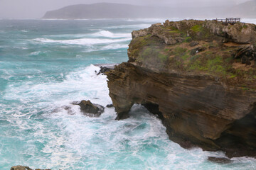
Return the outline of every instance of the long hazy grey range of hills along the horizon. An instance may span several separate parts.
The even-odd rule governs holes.
[[[238,6],[214,7],[153,7],[134,6],[129,4],[79,4],[66,6],[55,11],[48,11],[46,19],[83,19],[83,18],[223,18],[247,17],[255,18],[256,1],[247,1]]]

